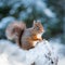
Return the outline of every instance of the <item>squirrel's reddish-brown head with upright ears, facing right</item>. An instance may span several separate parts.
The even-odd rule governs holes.
[[[44,32],[43,26],[40,22],[34,21],[34,29],[37,34],[43,34]]]

